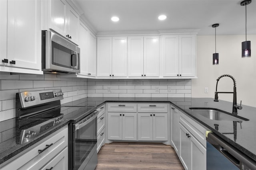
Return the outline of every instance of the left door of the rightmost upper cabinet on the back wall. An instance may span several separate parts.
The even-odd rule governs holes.
[[[179,74],[179,36],[162,36],[162,69],[164,77],[178,76]]]

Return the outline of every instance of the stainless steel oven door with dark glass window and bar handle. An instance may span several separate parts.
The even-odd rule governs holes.
[[[97,115],[95,111],[74,125],[73,165],[74,170],[96,167],[97,158]],[[93,168],[93,169],[94,169]]]

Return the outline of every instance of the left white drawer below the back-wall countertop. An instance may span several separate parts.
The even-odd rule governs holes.
[[[137,112],[137,104],[132,103],[109,103],[109,112]]]

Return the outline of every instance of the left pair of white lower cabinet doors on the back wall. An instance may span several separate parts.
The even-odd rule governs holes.
[[[109,140],[137,140],[137,113],[108,112]]]

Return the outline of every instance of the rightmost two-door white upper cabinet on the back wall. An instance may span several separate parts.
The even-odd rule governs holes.
[[[196,76],[196,35],[162,35],[164,77]]]

